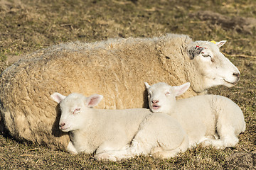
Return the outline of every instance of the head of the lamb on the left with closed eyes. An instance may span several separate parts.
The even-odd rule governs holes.
[[[60,130],[69,132],[78,130],[85,125],[85,120],[90,122],[92,116],[92,107],[97,106],[102,100],[103,96],[93,94],[92,96],[85,97],[82,94],[70,94],[63,96],[59,93],[50,95],[54,101],[60,103]]]

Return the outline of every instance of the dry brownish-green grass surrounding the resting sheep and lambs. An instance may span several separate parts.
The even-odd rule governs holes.
[[[247,123],[247,130],[234,148],[216,150],[198,146],[172,159],[136,157],[117,163],[96,162],[92,154],[72,155],[0,135],[0,168],[255,169],[255,6],[254,0],[0,1],[1,72],[10,65],[10,58],[59,42],[94,42],[164,33],[187,34],[193,40],[228,40],[221,51],[240,69],[242,77],[231,89],[219,86],[209,93],[227,96],[238,103]],[[205,11],[211,12],[208,18]]]

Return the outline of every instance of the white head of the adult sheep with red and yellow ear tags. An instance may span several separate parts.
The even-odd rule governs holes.
[[[204,89],[218,85],[235,86],[240,79],[238,68],[219,50],[225,42],[196,41],[188,46],[188,56],[203,76]]]

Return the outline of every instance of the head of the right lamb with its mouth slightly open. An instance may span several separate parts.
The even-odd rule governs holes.
[[[188,90],[190,83],[181,86],[170,86],[166,83],[149,85],[145,82],[148,91],[149,108],[154,113],[170,113],[176,105],[176,96],[180,96]]]

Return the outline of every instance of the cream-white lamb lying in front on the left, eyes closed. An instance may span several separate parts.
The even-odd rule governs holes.
[[[169,115],[154,114],[146,108],[92,108],[102,100],[99,94],[66,97],[56,92],[51,97],[60,103],[60,130],[70,132],[68,152],[96,151],[97,160],[119,161],[139,154],[169,158],[188,148],[186,132]]]

